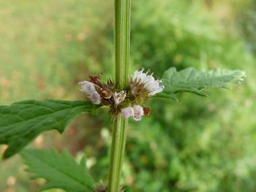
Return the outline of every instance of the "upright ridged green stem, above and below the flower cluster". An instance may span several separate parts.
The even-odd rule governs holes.
[[[115,0],[115,80],[127,90],[129,81],[131,0]],[[114,121],[108,175],[108,192],[119,191],[128,119],[119,114]]]

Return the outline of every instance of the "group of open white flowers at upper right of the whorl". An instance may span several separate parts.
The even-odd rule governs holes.
[[[162,92],[162,90],[164,89],[164,86],[159,86],[159,83],[162,83],[162,81],[160,80],[156,80],[154,79],[154,77],[152,76],[153,73],[151,75],[147,75],[147,73],[143,73],[144,68],[142,68],[141,71],[135,71],[134,75],[133,75],[133,81],[135,81],[135,79],[137,79],[137,81],[141,81],[141,83],[145,84],[145,86],[149,89],[149,94],[148,96],[153,96],[156,93]]]

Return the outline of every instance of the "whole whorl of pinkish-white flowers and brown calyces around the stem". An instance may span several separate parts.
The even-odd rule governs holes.
[[[140,121],[141,116],[147,115],[150,117],[150,106],[145,106],[144,103],[150,97],[158,92],[162,92],[164,86],[160,86],[159,77],[155,80],[154,77],[136,70],[134,75],[131,75],[127,90],[121,90],[116,86],[113,79],[108,79],[105,83],[100,79],[100,74],[91,75],[90,82],[79,82],[81,91],[86,94],[86,97],[92,100],[94,104],[103,104],[109,107],[108,114],[113,119],[120,113],[125,119],[133,116],[135,121]]]

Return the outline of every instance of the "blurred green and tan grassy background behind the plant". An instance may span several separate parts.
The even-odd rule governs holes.
[[[130,191],[256,191],[256,1],[136,0],[131,7],[130,73],[145,67],[243,69],[232,90],[209,98],[155,99],[151,117],[130,118],[122,185]],[[113,0],[0,0],[0,104],[44,98],[84,100],[77,82],[114,75]],[[88,157],[106,182],[112,123],[106,110],[80,115],[65,133],[32,148],[68,148]],[[5,146],[0,146],[1,153]],[[38,191],[20,155],[1,161],[0,191]],[[48,190],[62,191],[59,189]]]

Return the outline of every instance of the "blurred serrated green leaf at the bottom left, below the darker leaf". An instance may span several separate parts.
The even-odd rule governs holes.
[[[67,150],[59,154],[55,148],[51,151],[26,149],[20,154],[29,166],[26,170],[36,173],[31,179],[44,178],[49,181],[40,191],[52,188],[64,189],[67,192],[93,191],[94,181],[86,168],[85,156],[77,164]]]

